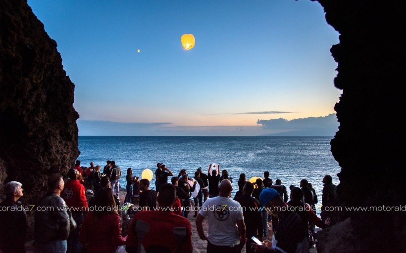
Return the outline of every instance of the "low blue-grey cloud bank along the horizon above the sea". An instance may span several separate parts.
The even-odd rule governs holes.
[[[257,126],[173,126],[171,123],[120,123],[78,120],[81,136],[334,136],[335,114],[304,119],[258,120]]]

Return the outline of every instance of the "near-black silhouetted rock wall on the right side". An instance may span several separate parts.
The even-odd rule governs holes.
[[[339,44],[331,48],[338,63],[334,84],[343,90],[335,105],[340,127],[331,141],[332,154],[342,168],[337,205],[406,207],[406,180],[401,175],[405,95],[400,92],[406,70],[406,2],[317,1],[328,24],[340,34]],[[334,213],[345,223],[322,232],[318,252],[405,252],[405,213]]]

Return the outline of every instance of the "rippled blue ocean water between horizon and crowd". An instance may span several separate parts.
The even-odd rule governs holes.
[[[114,160],[121,167],[121,186],[125,188],[127,168],[140,176],[144,169],[156,169],[156,163],[164,163],[174,175],[187,169],[194,175],[197,168],[207,171],[210,163],[220,164],[233,178],[233,195],[238,190],[240,173],[247,179],[263,177],[270,172],[275,182],[281,179],[289,185],[299,186],[302,178],[312,183],[321,202],[325,174],[338,184],[338,163],[330,152],[332,137],[274,137],[274,136],[79,136],[82,166],[94,162],[103,169],[106,160]],[[155,178],[151,188],[154,189]]]

